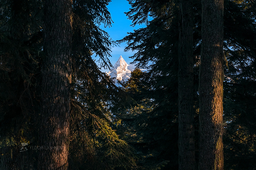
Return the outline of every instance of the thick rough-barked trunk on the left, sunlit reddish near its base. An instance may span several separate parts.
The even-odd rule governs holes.
[[[72,0],[45,0],[38,169],[67,169]]]

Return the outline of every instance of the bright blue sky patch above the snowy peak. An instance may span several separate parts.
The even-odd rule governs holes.
[[[124,38],[124,36],[127,36],[127,32],[133,32],[133,30],[135,29],[145,27],[145,25],[135,27],[130,26],[132,24],[132,20],[129,20],[127,16],[124,14],[124,12],[129,11],[130,7],[131,6],[126,0],[113,0],[108,5],[108,10],[114,23],[112,23],[112,27],[110,28],[104,28],[103,25],[100,26],[100,28],[108,32],[110,37],[115,41]],[[125,61],[127,61],[128,64],[133,61],[133,59],[129,57],[132,56],[135,52],[124,52],[124,48],[126,46],[127,44],[124,42],[121,43],[119,47],[113,47],[111,49],[112,57],[110,57],[109,59],[112,64],[116,63],[120,55],[122,55],[122,57]]]

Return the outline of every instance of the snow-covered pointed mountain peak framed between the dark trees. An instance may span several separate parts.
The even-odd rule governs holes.
[[[135,69],[135,65],[127,64],[126,61],[124,61],[124,58],[120,55],[118,58],[118,61],[114,64],[113,68],[110,69],[110,72],[107,74],[113,78],[116,77],[117,80],[121,81],[127,81],[129,77],[131,77],[131,72]]]

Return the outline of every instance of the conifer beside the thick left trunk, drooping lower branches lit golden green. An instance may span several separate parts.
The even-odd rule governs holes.
[[[69,169],[132,169],[132,148],[116,135],[114,112],[128,96],[99,67],[92,53],[108,66],[115,43],[99,23],[110,26],[109,1],[73,1],[71,138]],[[83,7],[83,8],[82,8]]]

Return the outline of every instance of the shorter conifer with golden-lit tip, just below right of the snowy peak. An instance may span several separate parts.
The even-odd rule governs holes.
[[[118,131],[137,151],[138,169],[153,170],[164,167],[169,161],[163,159],[162,148],[155,146],[163,144],[162,136],[156,134],[159,124],[155,120],[159,120],[159,117],[155,115],[154,109],[158,101],[148,98],[150,96],[147,93],[152,91],[144,81],[145,77],[145,72],[136,68],[125,83],[125,91],[132,96],[135,103],[118,116],[121,119]]]

